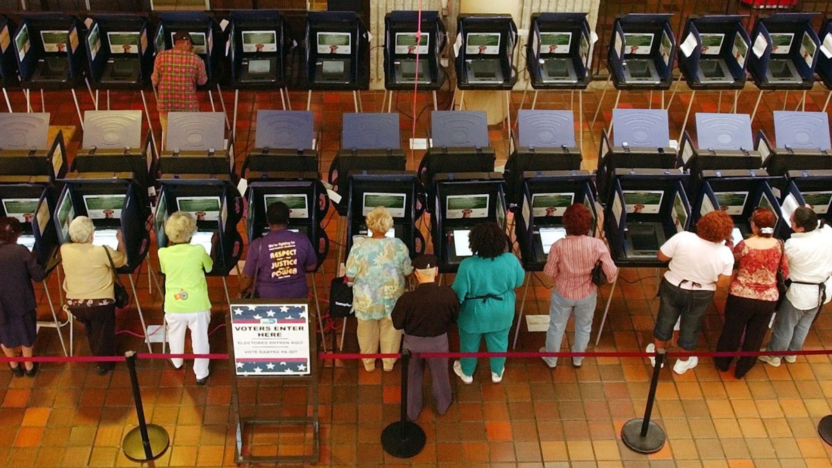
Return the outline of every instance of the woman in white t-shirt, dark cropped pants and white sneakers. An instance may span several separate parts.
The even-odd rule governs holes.
[[[702,318],[713,301],[716,282],[730,278],[734,269],[730,243],[733,229],[734,222],[725,212],[710,212],[696,222],[696,234],[679,232],[661,246],[659,260],[670,264],[659,285],[659,313],[647,352],[667,347],[680,316],[679,346],[685,351],[696,349]],[[655,365],[655,358],[650,361]],[[679,359],[673,371],[684,374],[698,363],[696,356]]]

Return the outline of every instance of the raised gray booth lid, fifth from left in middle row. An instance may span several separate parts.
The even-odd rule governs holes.
[[[399,112],[345,112],[341,126],[341,149],[399,149]]]

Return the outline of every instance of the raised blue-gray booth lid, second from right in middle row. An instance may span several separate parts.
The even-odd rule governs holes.
[[[697,112],[696,141],[701,150],[753,149],[751,117],[748,114]]]

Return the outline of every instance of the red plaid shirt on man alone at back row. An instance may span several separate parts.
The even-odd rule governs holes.
[[[159,112],[198,112],[196,87],[208,82],[206,64],[185,49],[164,50],[156,55],[151,81],[159,88]]]

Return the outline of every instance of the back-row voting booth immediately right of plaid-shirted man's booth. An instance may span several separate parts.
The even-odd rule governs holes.
[[[230,86],[274,89],[286,86],[289,40],[285,20],[276,10],[237,10],[228,17]]]

